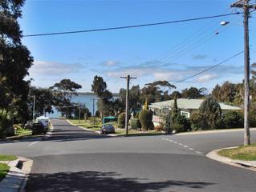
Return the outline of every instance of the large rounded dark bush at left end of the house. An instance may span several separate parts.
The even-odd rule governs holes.
[[[139,118],[140,118],[142,130],[153,130],[154,129],[154,124],[152,122],[152,111],[151,110],[141,110]]]

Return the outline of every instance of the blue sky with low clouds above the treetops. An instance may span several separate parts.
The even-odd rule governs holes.
[[[167,22],[237,12],[230,0],[26,0],[19,19],[26,34],[91,30],[114,26]],[[250,62],[255,61],[256,14],[250,18]],[[185,82],[209,66],[243,50],[242,15],[193,22],[109,30],[83,34],[24,37],[22,43],[34,57],[27,79],[32,85],[53,86],[70,78],[91,91],[95,75],[108,90],[166,80],[183,90],[190,86],[212,90],[218,83],[242,82],[243,54]],[[229,25],[221,26],[220,22]]]

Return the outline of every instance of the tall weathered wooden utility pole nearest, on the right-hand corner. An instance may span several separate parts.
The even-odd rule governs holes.
[[[244,10],[244,70],[245,70],[245,98],[244,98],[244,146],[250,145],[250,50],[249,50],[249,24],[248,18],[250,9],[255,9],[255,5],[250,4],[250,0],[239,0],[234,2],[231,7],[241,8]]]

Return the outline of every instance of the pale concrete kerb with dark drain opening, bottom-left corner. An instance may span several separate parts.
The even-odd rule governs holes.
[[[10,170],[0,182],[0,191],[5,192],[21,192],[26,186],[28,174],[30,174],[33,160],[24,157],[18,157],[17,160],[5,162],[10,166]],[[22,168],[19,166],[22,163]]]

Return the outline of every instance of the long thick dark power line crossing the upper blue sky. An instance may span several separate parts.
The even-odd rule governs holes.
[[[201,17],[201,18],[187,18],[187,19],[181,19],[181,20],[175,20],[175,21],[169,21],[169,22],[154,22],[154,23],[146,23],[146,24],[140,24],[140,25],[116,26],[116,27],[100,28],[100,29],[92,29],[92,30],[72,30],[72,31],[45,33],[45,34],[25,34],[22,37],[26,38],[26,37],[50,36],[50,35],[60,35],[60,34],[79,34],[79,33],[89,33],[89,32],[97,32],[97,31],[104,31],[104,30],[123,30],[123,29],[144,27],[144,26],[166,25],[166,24],[177,23],[177,22],[193,22],[197,20],[203,20],[203,19],[209,19],[209,18],[221,18],[221,17],[237,15],[237,14],[242,14],[242,13],[236,12],[232,14],[217,14],[217,15]]]

